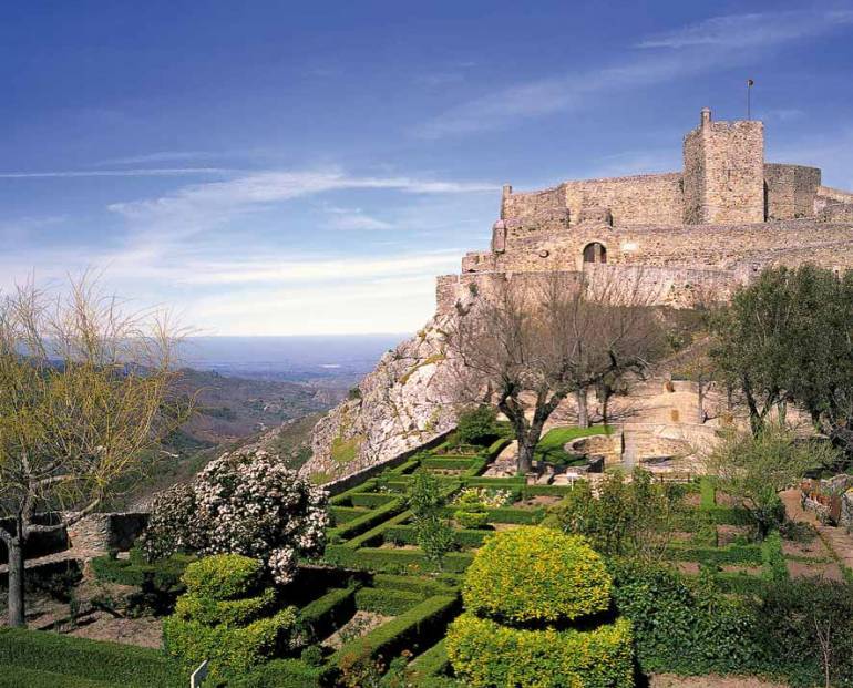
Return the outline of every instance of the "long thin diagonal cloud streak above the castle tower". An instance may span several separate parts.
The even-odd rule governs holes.
[[[621,62],[517,83],[426,122],[428,138],[505,129],[514,122],[598,106],[605,96],[743,62],[759,51],[853,23],[853,10],[729,14],[641,40]]]

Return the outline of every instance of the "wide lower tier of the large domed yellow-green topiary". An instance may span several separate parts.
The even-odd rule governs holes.
[[[462,614],[448,629],[448,656],[473,688],[631,688],[631,626],[617,619],[593,630],[527,630]]]

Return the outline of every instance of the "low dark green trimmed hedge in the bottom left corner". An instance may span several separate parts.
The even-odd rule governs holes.
[[[183,688],[188,678],[155,649],[24,628],[0,628],[0,665],[13,666],[16,671],[39,667],[39,671],[68,677],[66,682],[53,686],[74,686],[76,678],[130,688]]]

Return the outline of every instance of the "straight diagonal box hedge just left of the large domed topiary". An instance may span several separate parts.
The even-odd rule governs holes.
[[[395,657],[404,649],[417,653],[430,647],[444,635],[448,622],[455,614],[459,598],[436,595],[383,624],[368,635],[341,647],[330,661],[339,664],[347,656]]]

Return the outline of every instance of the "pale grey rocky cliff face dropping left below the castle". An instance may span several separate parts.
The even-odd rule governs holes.
[[[300,469],[327,482],[414,449],[455,424],[451,367],[444,332],[453,316],[428,322],[388,351],[350,399],[311,433],[312,458]]]

